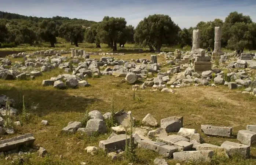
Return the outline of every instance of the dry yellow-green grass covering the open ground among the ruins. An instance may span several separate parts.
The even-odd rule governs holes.
[[[82,45],[82,44],[81,44]],[[128,46],[128,44],[127,44]],[[81,47],[83,48],[83,47]],[[61,49],[61,48],[60,48]],[[104,49],[104,48],[103,48]],[[87,49],[85,49],[87,50]],[[88,48],[88,51],[94,49]],[[104,51],[103,51],[104,52]],[[100,56],[90,56],[99,59]],[[150,54],[128,54],[115,56],[118,59],[150,59]],[[19,59],[12,59],[13,62]],[[159,62],[164,62],[163,56],[158,57]],[[29,110],[31,119],[22,126],[15,127],[14,135],[1,135],[3,139],[32,133],[36,138],[35,145],[42,146],[48,151],[46,157],[39,157],[38,153],[22,155],[25,164],[41,165],[78,165],[86,162],[88,165],[113,164],[127,165],[127,160],[111,161],[103,152],[95,156],[88,154],[84,148],[87,146],[98,147],[100,140],[105,140],[111,132],[105,135],[87,136],[76,133],[75,135],[62,135],[61,129],[70,121],[81,121],[85,112],[99,110],[102,114],[111,110],[111,96],[116,95],[114,107],[118,111],[132,111],[133,117],[141,121],[148,113],[152,114],[160,124],[162,118],[171,116],[183,116],[185,128],[196,129],[205,143],[221,145],[224,141],[238,142],[236,138],[212,137],[201,133],[201,124],[216,126],[232,126],[234,136],[246,125],[255,124],[256,97],[238,93],[237,91],[225,92],[227,87],[219,85],[213,87],[186,87],[177,88],[175,93],[152,92],[150,88],[140,89],[135,92],[133,100],[132,85],[121,83],[120,77],[101,76],[89,78],[90,87],[78,89],[55,89],[54,87],[43,87],[42,80],[63,74],[63,70],[55,69],[43,73],[43,76],[35,80],[0,80],[0,94],[4,94],[16,100],[16,108],[21,110],[22,96],[25,97],[26,107],[38,105],[38,109]],[[141,84],[139,82],[138,84]],[[141,98],[141,99],[138,99]],[[21,115],[18,116],[21,119]],[[18,120],[17,119],[17,120]],[[41,120],[48,120],[50,125],[41,125]],[[138,122],[140,125],[140,122]],[[13,154],[11,157],[18,154]],[[62,158],[60,158],[62,155]],[[134,164],[153,164],[155,158],[160,157],[153,151],[136,149],[138,160]],[[215,157],[211,164],[256,164],[256,148],[251,147],[251,158],[224,159]],[[177,162],[169,159],[169,164]],[[11,164],[5,157],[0,158],[0,164]],[[193,164],[193,163],[183,163]],[[204,164],[204,163],[202,163]]]

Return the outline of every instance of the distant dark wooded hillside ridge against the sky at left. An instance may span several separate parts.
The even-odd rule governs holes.
[[[8,24],[13,24],[14,22],[28,22],[29,20],[34,21],[34,22],[41,22],[43,21],[43,19],[47,19],[47,20],[52,20],[55,22],[61,22],[61,23],[74,23],[74,24],[78,24],[78,25],[83,25],[85,27],[89,27],[95,23],[95,21],[88,21],[86,19],[77,19],[77,18],[68,18],[68,17],[60,17],[60,16],[56,16],[56,17],[52,17],[52,18],[43,18],[43,17],[32,17],[32,16],[26,16],[26,15],[20,15],[20,14],[15,14],[15,13],[9,13],[9,12],[4,12],[4,11],[0,11],[0,18],[2,19],[6,19],[7,22],[9,22]]]

